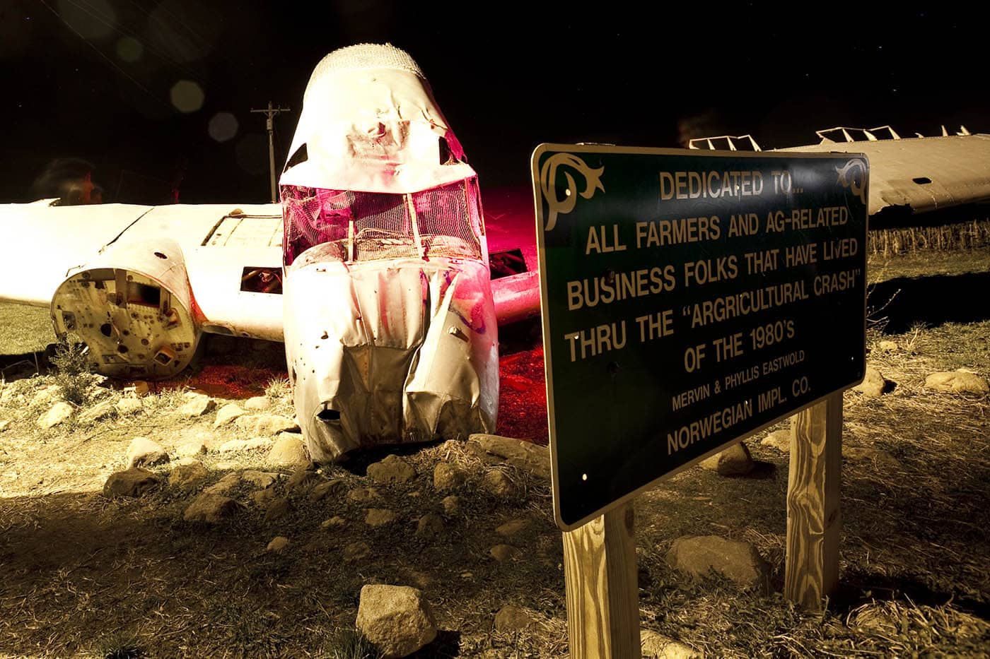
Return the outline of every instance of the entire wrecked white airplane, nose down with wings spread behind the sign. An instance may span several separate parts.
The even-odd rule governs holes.
[[[867,153],[871,215],[990,199],[990,136],[793,150]],[[489,193],[482,213],[407,53],[317,65],[280,190],[281,204],[0,206],[0,298],[48,306],[58,336],[124,379],[175,376],[204,332],[284,341],[315,461],[494,430],[498,325],[540,313],[533,197]]]

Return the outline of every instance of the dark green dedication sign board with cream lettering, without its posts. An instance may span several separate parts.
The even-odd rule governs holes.
[[[557,524],[862,380],[861,154],[541,144]]]

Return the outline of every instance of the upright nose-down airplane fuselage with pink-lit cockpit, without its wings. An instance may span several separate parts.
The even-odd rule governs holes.
[[[494,431],[476,175],[412,57],[324,57],[280,186],[285,354],[310,457]]]

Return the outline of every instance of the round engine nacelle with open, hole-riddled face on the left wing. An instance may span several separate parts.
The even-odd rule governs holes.
[[[182,249],[161,238],[112,243],[70,270],[51,299],[51,321],[59,337],[86,343],[93,369],[128,379],[176,375],[202,333]]]

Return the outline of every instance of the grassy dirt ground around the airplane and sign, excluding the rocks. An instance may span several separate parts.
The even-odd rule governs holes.
[[[982,262],[990,265],[990,257]],[[895,384],[876,398],[844,395],[841,589],[827,611],[803,612],[779,594],[788,455],[760,443],[779,429],[769,428],[746,440],[759,467],[750,476],[694,467],[637,500],[644,629],[707,657],[990,654],[990,398],[924,387],[935,371],[990,376],[990,314],[972,318],[986,296],[964,291],[980,300],[966,318],[945,318],[945,305],[919,293],[925,277],[898,277],[890,280],[900,281],[894,290],[903,311],[871,294],[880,323],[868,332],[867,357]],[[538,336],[534,326],[503,335],[499,432],[545,443]],[[880,349],[880,341],[894,345]],[[291,417],[280,350],[218,341],[195,375],[158,386],[140,411],[50,429],[36,420],[57,400],[40,394],[54,376],[34,375],[30,364],[5,369],[0,656],[368,656],[352,629],[360,588],[373,583],[423,592],[440,634],[420,656],[565,656],[562,546],[544,479],[448,442],[398,449],[416,470],[406,483],[367,475],[387,450],[323,467],[318,478],[344,486],[313,501],[305,488],[287,489],[292,470],[266,464],[266,451],[217,451],[249,438],[247,431],[215,427],[215,411],[179,414],[182,393],[196,388],[218,407],[263,395],[268,412]],[[87,392],[82,409],[131,395],[114,387]],[[165,484],[141,498],[104,498],[104,482],[124,468],[135,436],[173,452],[202,441],[209,477],[192,489]],[[434,487],[441,462],[466,474],[452,491],[456,508],[445,505],[451,491]],[[175,464],[173,457],[151,469],[167,481]],[[282,476],[262,495],[242,481],[229,495],[242,509],[222,523],[183,519],[204,488],[246,469]],[[492,491],[492,472],[507,477],[505,491]],[[266,516],[272,498],[288,501],[280,517]],[[395,520],[369,525],[368,509],[390,510]],[[431,513],[441,526],[419,532]],[[340,519],[324,523],[331,518]],[[511,520],[524,521],[513,532],[496,530]],[[278,535],[289,545],[266,551]],[[770,564],[775,593],[673,570],[665,555],[682,535],[752,543]],[[503,560],[490,551],[500,544],[511,547]],[[496,629],[494,615],[505,605],[524,609],[529,624]]]

